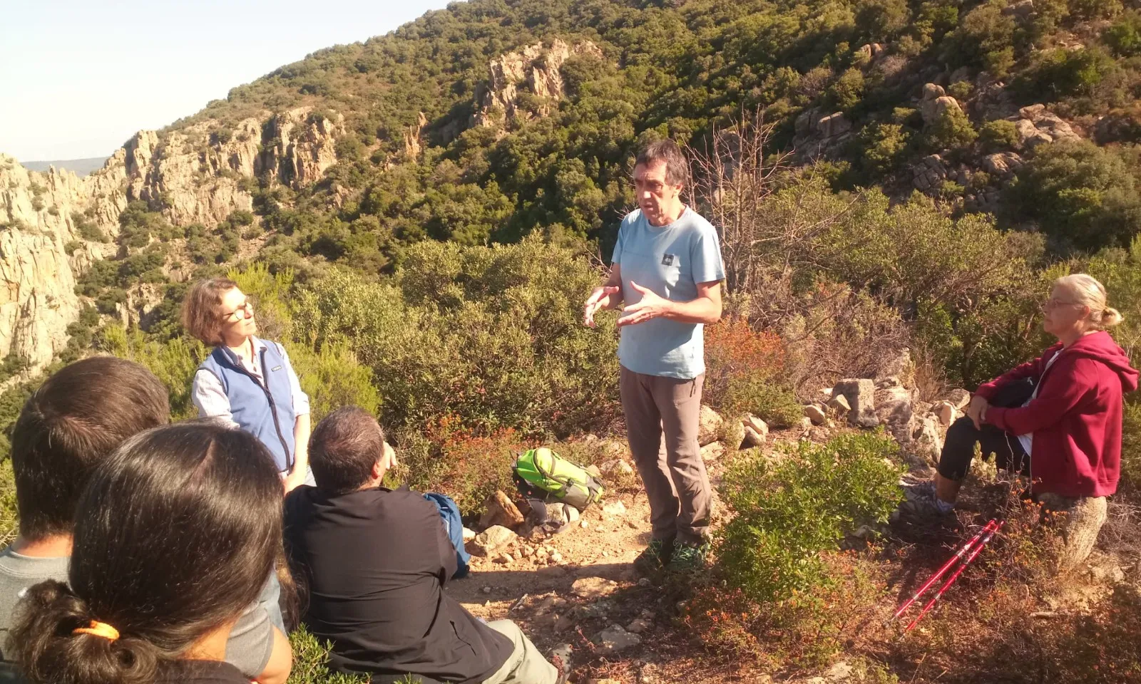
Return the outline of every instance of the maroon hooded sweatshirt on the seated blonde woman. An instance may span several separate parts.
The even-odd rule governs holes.
[[[1046,369],[1054,353],[1058,359]],[[1054,344],[1028,364],[979,385],[990,399],[1003,384],[1033,377],[1038,396],[1021,408],[987,409],[986,422],[1011,434],[1034,433],[1035,492],[1109,496],[1122,473],[1122,394],[1138,389],[1138,372],[1109,333]]]

